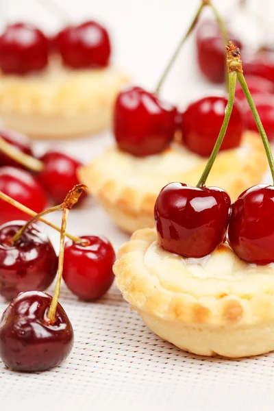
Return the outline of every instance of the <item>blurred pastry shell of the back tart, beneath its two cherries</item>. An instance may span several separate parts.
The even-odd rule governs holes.
[[[113,67],[73,70],[51,58],[32,75],[0,75],[0,116],[32,138],[73,138],[108,127],[127,77]]]

